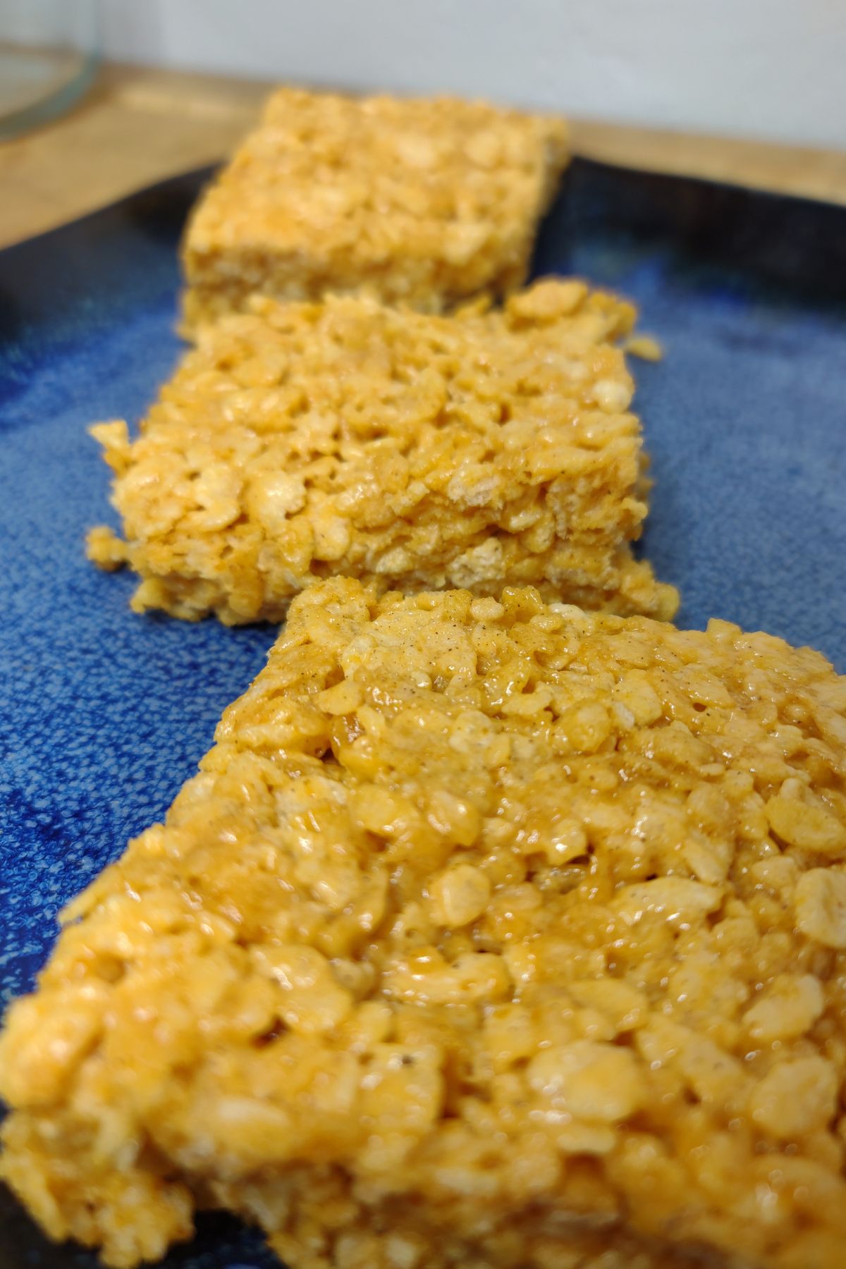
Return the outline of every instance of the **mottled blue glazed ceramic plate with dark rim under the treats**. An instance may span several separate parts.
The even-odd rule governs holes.
[[[85,428],[137,419],[179,355],[176,242],[195,173],[0,253],[0,985],[32,986],[61,905],[160,819],[260,669],[269,627],[134,617],[86,563],[109,519]],[[630,296],[656,486],[644,549],[719,615],[846,670],[846,208],[576,161],[538,273]],[[0,1269],[93,1269],[5,1192]],[[270,1266],[211,1216],[167,1260]]]

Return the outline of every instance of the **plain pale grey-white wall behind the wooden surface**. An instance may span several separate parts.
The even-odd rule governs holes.
[[[846,0],[103,0],[107,53],[846,148]]]

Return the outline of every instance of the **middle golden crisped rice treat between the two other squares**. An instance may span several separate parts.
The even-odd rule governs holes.
[[[611,340],[633,320],[573,280],[449,317],[257,298],[204,331],[134,443],[93,429],[126,542],[96,529],[89,552],[141,575],[137,610],[227,623],[280,621],[330,574],[668,618],[676,591],[629,546],[646,482]]]

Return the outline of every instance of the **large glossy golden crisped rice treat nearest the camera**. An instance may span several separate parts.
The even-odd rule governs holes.
[[[841,1269],[846,680],[332,579],[0,1043],[1,1171],[155,1260]]]

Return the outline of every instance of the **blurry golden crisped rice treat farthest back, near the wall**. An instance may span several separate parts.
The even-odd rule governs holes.
[[[482,102],[280,89],[190,218],[185,324],[252,291],[425,310],[512,291],[566,146],[561,119]]]

